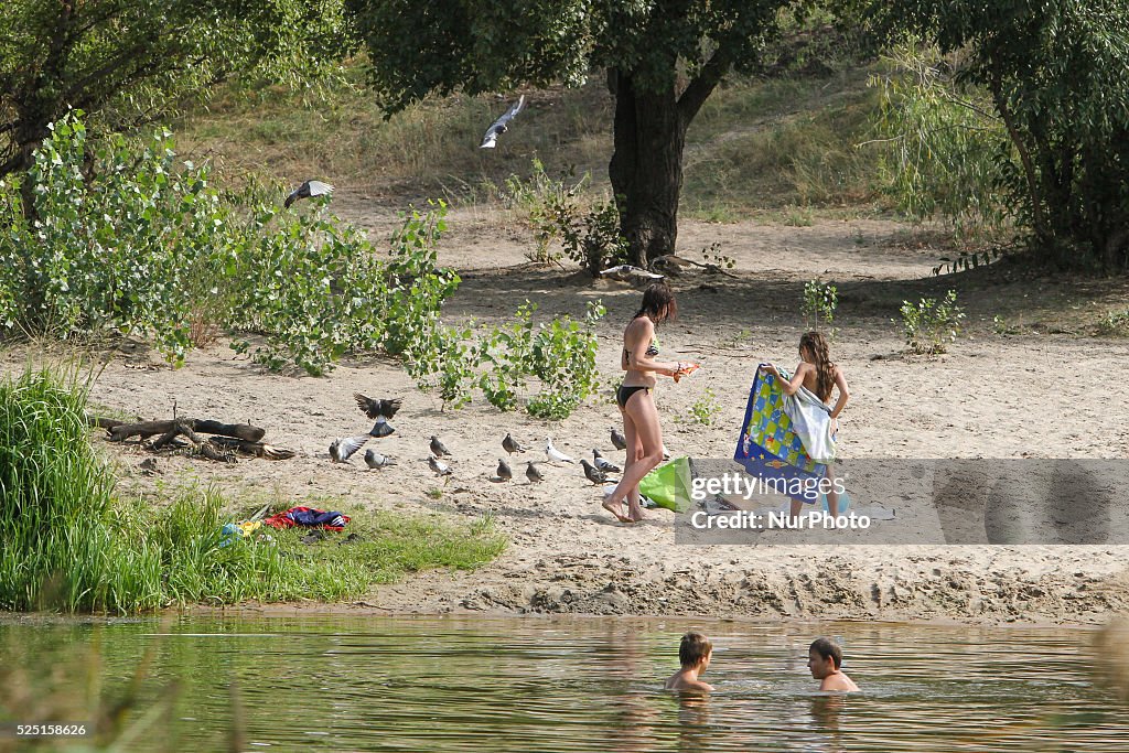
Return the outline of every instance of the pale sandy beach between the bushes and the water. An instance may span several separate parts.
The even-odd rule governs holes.
[[[334,210],[383,237],[391,212],[348,192]],[[611,393],[619,379],[622,327],[638,305],[628,284],[593,281],[524,259],[528,231],[500,211],[454,211],[440,262],[463,282],[445,317],[478,322],[510,316],[525,299],[540,310],[579,316],[601,299],[599,367],[607,387],[569,419],[548,424],[524,412],[500,413],[482,400],[441,411],[386,358],[353,359],[330,376],[275,375],[236,358],[226,342],[190,353],[169,369],[145,345],[124,348],[93,389],[93,401],[143,419],[181,414],[250,421],[266,439],[298,450],[281,462],[225,466],[169,457],[152,475],[135,445],[96,444],[113,457],[123,493],[198,482],[233,500],[308,504],[333,499],[343,511],[382,508],[412,514],[491,516],[509,537],[498,560],[475,572],[431,571],[370,594],[356,608],[404,612],[504,611],[595,614],[702,614],[820,619],[955,620],[970,623],[1096,623],[1129,608],[1129,546],[782,546],[771,533],[744,545],[686,546],[674,542],[673,514],[650,510],[633,526],[599,508],[599,488],[579,467],[540,465],[545,480],[491,483],[501,438],[511,432],[544,461],[546,437],[574,457],[599,448],[619,426]],[[675,455],[732,457],[756,365],[795,366],[804,282],[839,288],[833,358],[844,369],[851,401],[840,452],[847,458],[1127,458],[1129,404],[1111,389],[1129,359],[1129,342],[1093,338],[1083,314],[1104,310],[1124,281],[1016,278],[1006,265],[945,279],[930,274],[943,252],[928,236],[884,220],[815,221],[808,227],[683,222],[680,252],[700,260],[720,242],[736,262],[733,277],[691,273],[672,280],[680,316],[660,331],[663,358],[697,360],[700,371],[657,392],[664,439]],[[1021,284],[1022,282],[1022,284]],[[907,358],[898,315],[903,298],[960,291],[968,330],[951,352]],[[996,319],[1000,317],[1000,319]],[[1017,334],[999,333],[999,321]],[[12,370],[28,357],[2,354]],[[706,389],[718,410],[708,426],[690,419]],[[336,465],[334,437],[362,434],[368,421],[353,392],[402,397],[396,434],[374,440],[396,467],[368,471],[360,455]],[[444,484],[427,466],[428,438],[453,452]],[[429,494],[439,489],[438,499]],[[303,608],[317,608],[304,604]]]

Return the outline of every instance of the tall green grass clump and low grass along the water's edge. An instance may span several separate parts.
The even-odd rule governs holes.
[[[174,603],[324,601],[427,568],[469,569],[506,546],[489,520],[357,513],[313,545],[262,528],[225,545],[222,497],[119,501],[91,448],[86,395],[49,370],[0,383],[0,608],[134,612]],[[339,545],[341,544],[341,545]]]

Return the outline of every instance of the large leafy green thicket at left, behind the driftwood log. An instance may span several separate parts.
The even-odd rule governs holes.
[[[88,177],[84,167],[93,160]],[[278,191],[222,196],[205,168],[177,167],[172,134],[87,142],[81,113],[53,128],[19,186],[0,182],[0,333],[152,338],[182,362],[208,327],[255,333],[231,347],[269,368],[323,374],[350,351],[400,354],[434,336],[458,286],[436,269],[445,204],[412,211],[377,259],[365,234],[325,212],[285,210]]]

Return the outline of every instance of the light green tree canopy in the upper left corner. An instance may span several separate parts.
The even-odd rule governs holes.
[[[236,76],[308,76],[344,30],[342,0],[3,0],[0,176],[70,108],[128,130]]]

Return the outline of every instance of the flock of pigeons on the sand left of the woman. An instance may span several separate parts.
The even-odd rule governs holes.
[[[357,401],[357,408],[367,415],[368,418],[376,421],[368,434],[357,435],[353,437],[338,437],[330,444],[330,459],[334,463],[349,463],[357,452],[365,446],[369,439],[383,439],[395,432],[395,428],[392,426],[392,419],[395,417],[396,411],[400,410],[402,401],[392,399],[373,399],[358,393],[353,394],[353,399]],[[622,450],[627,449],[627,439],[623,434],[619,431],[615,427],[612,427],[610,438],[612,446],[615,449]],[[525,445],[519,443],[509,432],[502,437],[501,448],[506,452],[508,458],[513,458],[514,455],[524,455],[530,452]],[[545,459],[544,461],[525,461],[525,478],[530,483],[539,483],[544,481],[544,473],[537,467],[539,464],[549,463],[552,465],[576,465],[576,458],[566,455],[560,449],[553,445],[551,437],[545,438]],[[453,453],[447,448],[443,440],[438,436],[431,435],[431,439],[428,443],[428,455],[427,464],[428,467],[436,474],[436,476],[452,476],[453,470]],[[382,455],[371,447],[365,450],[365,465],[370,470],[374,469],[386,469],[393,465],[397,465],[396,459],[387,455]],[[622,469],[615,465],[607,458],[605,458],[598,448],[593,448],[592,450],[592,462],[587,458],[580,458],[580,469],[584,471],[585,478],[594,484],[603,484],[610,481],[609,475],[622,473]],[[510,467],[509,462],[506,457],[498,459],[498,466],[495,470],[493,475],[490,476],[490,481],[496,483],[504,483],[506,481],[513,481],[514,470]]]

